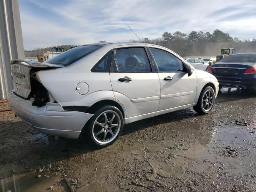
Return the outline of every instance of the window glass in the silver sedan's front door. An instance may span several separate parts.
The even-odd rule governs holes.
[[[150,48],[150,50],[160,72],[176,72],[183,70],[182,61],[171,53],[156,48]]]

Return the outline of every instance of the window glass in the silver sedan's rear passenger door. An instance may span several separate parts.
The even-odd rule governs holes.
[[[115,60],[119,72],[152,72],[144,48],[117,49]]]

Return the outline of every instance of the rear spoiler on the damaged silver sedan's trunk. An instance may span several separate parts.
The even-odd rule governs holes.
[[[22,65],[26,65],[28,67],[33,67],[33,68],[65,67],[64,65],[61,65],[61,64],[40,63],[40,62],[37,62],[37,61],[21,60],[21,59],[14,59],[14,60],[12,60],[11,63],[12,63],[12,65],[13,64],[22,64]]]

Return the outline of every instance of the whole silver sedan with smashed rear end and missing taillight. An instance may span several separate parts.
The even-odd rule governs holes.
[[[124,124],[194,107],[207,114],[217,79],[162,46],[104,43],[78,46],[47,60],[12,61],[14,113],[38,131],[105,147]]]

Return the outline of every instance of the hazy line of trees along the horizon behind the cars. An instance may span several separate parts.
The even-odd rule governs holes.
[[[101,40],[99,42],[105,42]],[[220,54],[221,48],[234,48],[236,53],[256,52],[256,39],[240,40],[232,38],[228,33],[221,30],[210,32],[192,31],[189,34],[176,31],[174,33],[164,32],[162,37],[156,39],[143,38],[143,40],[130,40],[130,42],[152,43],[169,48],[180,56],[216,56]],[[65,50],[75,45],[61,45]],[[51,47],[48,47],[51,50]],[[36,57],[36,54],[43,54],[46,48],[25,50],[25,57]]]

